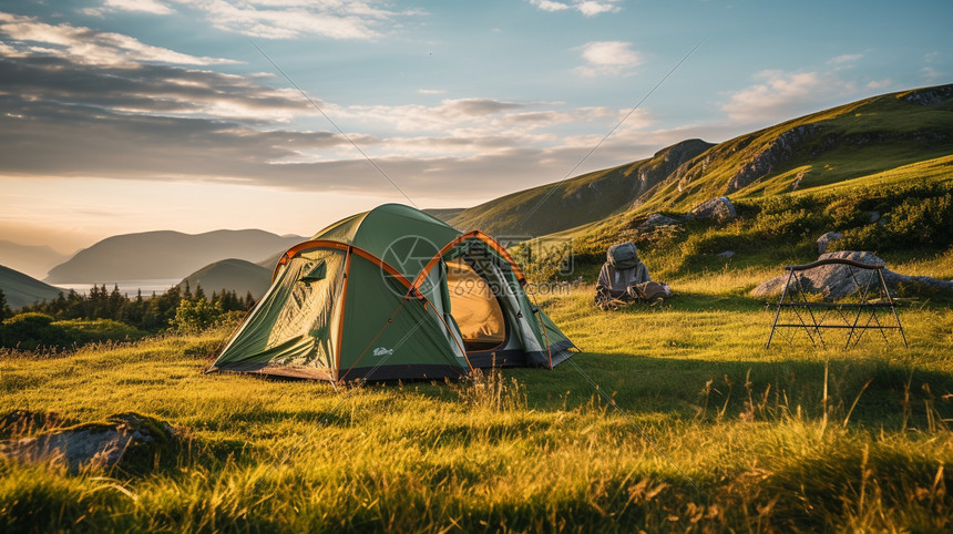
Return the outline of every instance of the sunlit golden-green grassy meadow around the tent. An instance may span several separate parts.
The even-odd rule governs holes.
[[[891,267],[951,278],[953,251]],[[222,330],[8,351],[4,411],[135,411],[183,441],[136,472],[0,460],[0,530],[953,528],[949,304],[905,302],[910,349],[867,335],[766,350],[773,315],[747,291],[778,274],[673,266],[676,298],[616,312],[592,285],[540,295],[583,352],[453,383],[202,374]]]

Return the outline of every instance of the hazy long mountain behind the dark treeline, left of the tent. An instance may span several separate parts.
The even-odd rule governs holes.
[[[304,240],[257,229],[146,232],[103,239],[50,270],[49,283],[185,278],[222,258],[259,260]]]

